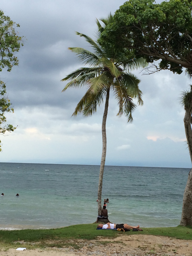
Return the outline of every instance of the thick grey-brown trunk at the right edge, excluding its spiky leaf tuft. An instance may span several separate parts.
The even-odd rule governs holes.
[[[192,163],[192,130],[191,130],[192,100],[189,108],[185,109],[184,126]],[[192,226],[192,169],[189,172],[187,184],[183,195],[183,207],[181,214],[182,226]]]

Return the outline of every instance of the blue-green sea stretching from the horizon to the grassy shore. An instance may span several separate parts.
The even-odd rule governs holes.
[[[0,229],[44,229],[97,219],[98,165],[0,163]],[[175,227],[190,169],[105,166],[109,221]],[[16,194],[19,197],[16,197]]]

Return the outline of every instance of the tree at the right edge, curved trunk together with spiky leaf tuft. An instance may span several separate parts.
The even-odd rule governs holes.
[[[185,117],[184,117],[184,127],[185,134],[187,139],[187,144],[189,148],[189,154],[192,163],[192,85],[190,85],[190,91],[186,91],[182,93],[180,103],[184,106],[185,109]],[[192,169],[188,174],[187,184],[185,187],[184,195],[183,195],[183,207],[181,214],[181,222],[182,226],[192,226]]]

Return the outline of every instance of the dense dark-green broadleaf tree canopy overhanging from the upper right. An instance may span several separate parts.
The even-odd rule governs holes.
[[[170,0],[130,0],[115,12],[114,22],[104,29],[100,43],[115,51],[134,51],[137,57],[160,69],[180,74],[183,67],[192,74],[192,4]]]

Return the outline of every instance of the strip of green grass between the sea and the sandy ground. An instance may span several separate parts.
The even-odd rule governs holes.
[[[97,224],[81,224],[57,229],[23,229],[23,230],[0,230],[0,241],[2,245],[16,245],[21,247],[17,241],[37,243],[38,247],[45,247],[49,244],[50,247],[62,247],[69,245],[75,239],[96,239],[98,236],[103,238],[115,238],[118,235],[132,235],[132,234],[149,234],[174,237],[178,239],[192,240],[191,227],[170,227],[170,228],[142,228],[143,231],[138,232],[118,232],[113,230],[97,230]],[[49,241],[49,243],[48,243]],[[18,246],[19,245],[19,246]],[[71,244],[72,246],[75,246]],[[23,246],[22,246],[23,247]],[[26,245],[25,245],[26,247]],[[30,246],[31,247],[31,246]]]

